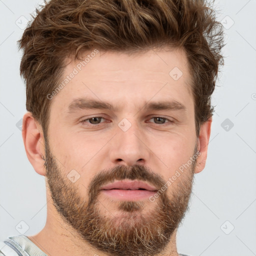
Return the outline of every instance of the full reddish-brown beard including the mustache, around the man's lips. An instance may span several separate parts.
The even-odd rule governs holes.
[[[166,181],[144,165],[117,165],[101,170],[90,181],[87,191],[84,189],[86,201],[84,193],[78,192],[77,185],[57,165],[45,139],[45,176],[57,212],[81,240],[109,256],[154,256],[163,252],[188,210],[195,164],[196,159],[164,191],[160,188]],[[159,196],[154,202],[115,201],[118,214],[109,214],[113,202],[102,207],[106,199],[100,197],[100,186],[122,179],[149,182],[160,191]]]

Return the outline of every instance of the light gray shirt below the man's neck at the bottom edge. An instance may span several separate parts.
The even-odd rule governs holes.
[[[179,256],[188,256],[178,254]],[[27,236],[9,236],[4,241],[0,241],[0,256],[47,256],[38,248]]]

